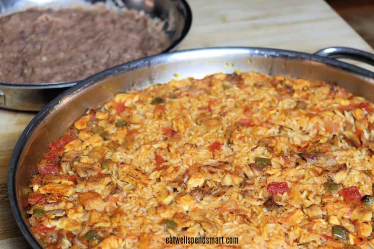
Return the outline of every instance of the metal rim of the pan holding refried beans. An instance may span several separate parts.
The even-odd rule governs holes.
[[[161,51],[160,53],[156,54],[163,54],[174,51],[180,43],[186,38],[191,25],[192,25],[192,11],[187,2],[187,0],[176,0],[177,6],[180,7],[180,10],[183,11],[185,18],[185,25],[183,26],[181,34],[178,36],[176,40],[174,40],[165,50]],[[145,58],[145,57],[142,57]],[[142,59],[139,58],[139,59]],[[119,65],[122,65],[119,64]],[[105,69],[106,70],[106,69]],[[84,80],[84,79],[83,79]],[[13,89],[54,89],[54,88],[69,88],[72,86],[77,85],[83,80],[76,80],[76,81],[66,81],[66,82],[47,82],[47,83],[6,83],[0,81],[0,88],[13,88]],[[1,90],[1,89],[0,89]]]

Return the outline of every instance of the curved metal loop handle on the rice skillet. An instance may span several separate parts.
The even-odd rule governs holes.
[[[346,58],[368,63],[374,66],[374,54],[349,47],[328,47],[314,53],[328,58]]]

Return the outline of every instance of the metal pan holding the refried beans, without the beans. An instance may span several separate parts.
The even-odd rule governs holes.
[[[118,8],[144,11],[165,22],[164,31],[170,41],[163,51],[174,50],[186,37],[192,22],[191,9],[186,0],[0,0],[0,15],[21,11],[27,7],[79,6],[98,2],[110,3]],[[1,65],[0,65],[1,66]],[[38,84],[9,84],[0,81],[0,108],[39,111],[49,101],[79,81]]]

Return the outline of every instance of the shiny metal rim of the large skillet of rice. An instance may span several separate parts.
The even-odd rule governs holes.
[[[18,168],[19,158],[20,155],[23,152],[23,149],[28,142],[30,136],[32,135],[35,128],[44,121],[44,119],[55,109],[56,106],[58,106],[61,103],[62,99],[65,99],[66,97],[70,95],[74,95],[75,93],[79,92],[79,90],[86,88],[90,85],[96,84],[100,82],[101,80],[106,79],[107,77],[118,75],[120,73],[125,73],[128,71],[131,71],[133,69],[137,69],[139,67],[142,67],[144,65],[150,65],[152,62],[163,62],[167,61],[168,58],[176,56],[183,56],[187,55],[188,58],[193,58],[194,56],[199,56],[201,53],[205,54],[216,54],[216,53],[227,53],[227,54],[243,54],[243,53],[251,53],[255,54],[256,56],[263,56],[263,57],[275,57],[275,58],[286,58],[286,59],[296,59],[296,60],[307,60],[307,61],[314,61],[314,62],[320,62],[326,66],[331,66],[334,68],[337,68],[342,71],[346,71],[349,73],[356,74],[358,77],[366,77],[369,79],[374,80],[374,72],[371,72],[369,70],[363,69],[361,67],[343,62],[338,61],[335,59],[330,59],[326,57],[322,57],[319,55],[314,55],[310,53],[305,52],[298,52],[298,51],[292,51],[292,50],[283,50],[283,49],[273,49],[273,48],[262,48],[262,47],[210,47],[210,48],[195,48],[195,49],[188,49],[188,50],[181,50],[181,51],[175,51],[171,53],[164,53],[164,54],[158,54],[153,55],[149,57],[144,57],[141,59],[133,60],[130,62],[126,62],[124,64],[109,68],[105,71],[102,71],[100,73],[97,73],[93,76],[90,76],[81,82],[79,84],[68,88],[63,93],[58,95],[56,98],[54,98],[51,102],[49,102],[39,113],[36,114],[36,116],[27,124],[25,129],[23,130],[22,134],[18,138],[10,161],[8,166],[8,175],[7,175],[7,188],[8,188],[8,199],[10,203],[10,209],[12,211],[13,217],[15,219],[15,222],[20,229],[23,237],[26,239],[26,241],[29,243],[29,245],[34,249],[41,249],[41,246],[37,242],[37,240],[32,235],[31,231],[28,229],[25,221],[22,218],[22,214],[20,212],[20,209],[18,207],[17,202],[17,192],[16,192],[16,186],[15,186],[15,178],[16,178],[16,172]]]

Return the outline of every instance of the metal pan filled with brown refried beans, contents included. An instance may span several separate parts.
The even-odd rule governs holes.
[[[190,25],[185,0],[0,1],[0,107],[38,111],[89,76],[175,49]]]

